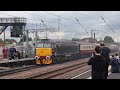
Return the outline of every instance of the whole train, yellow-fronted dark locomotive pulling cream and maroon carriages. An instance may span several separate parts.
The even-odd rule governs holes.
[[[72,40],[41,39],[35,49],[36,64],[52,64],[63,61],[90,57],[99,43],[83,43]],[[111,52],[116,52],[117,45],[108,45]]]

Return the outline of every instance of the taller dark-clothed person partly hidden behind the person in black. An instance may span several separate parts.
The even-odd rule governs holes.
[[[106,74],[105,74],[105,76],[106,76],[106,79],[107,79],[107,77],[108,77],[108,67],[109,67],[109,63],[110,63],[110,57],[109,57],[110,49],[108,47],[106,47],[104,43],[101,43],[100,46],[101,46],[101,50],[102,50],[101,55],[106,60]]]

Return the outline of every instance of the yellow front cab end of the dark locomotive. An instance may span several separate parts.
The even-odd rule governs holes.
[[[35,50],[36,64],[51,64],[52,63],[52,44],[48,42],[40,42]]]

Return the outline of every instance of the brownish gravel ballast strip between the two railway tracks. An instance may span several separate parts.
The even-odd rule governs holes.
[[[14,73],[14,74],[11,74],[11,75],[1,76],[0,79],[25,79],[29,76],[42,74],[42,73],[45,73],[45,72],[57,70],[57,69],[60,69],[62,67],[75,65],[75,64],[78,64],[78,63],[86,62],[86,61],[88,61],[88,58],[74,60],[74,61],[65,62],[65,63],[61,63],[61,64],[48,65],[48,66],[39,67],[39,68],[36,68],[36,69],[31,69],[31,70],[28,70],[28,71]],[[73,74],[74,73],[71,73],[71,74],[68,74],[68,75],[73,76]],[[68,75],[67,75],[67,77],[68,77]]]

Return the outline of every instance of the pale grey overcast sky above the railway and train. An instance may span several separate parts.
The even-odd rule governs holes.
[[[111,36],[115,41],[120,42],[120,11],[0,11],[0,18],[5,17],[26,17],[26,29],[45,29],[41,19],[48,28],[52,27],[58,31],[59,27],[59,32],[48,31],[48,38],[88,38],[91,37],[92,29],[96,30],[93,33],[96,33],[98,40],[104,39],[105,36]],[[6,38],[11,38],[9,27],[5,33]],[[44,38],[45,32],[39,32],[38,35],[40,38]],[[30,33],[29,36],[33,37],[33,34]],[[0,38],[3,39],[3,34],[0,35]]]

